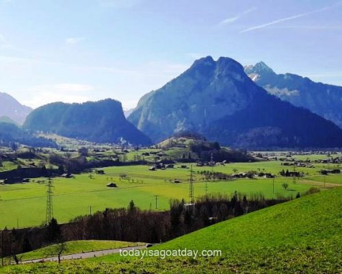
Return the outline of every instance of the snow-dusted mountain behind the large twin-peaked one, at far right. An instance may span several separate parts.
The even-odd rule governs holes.
[[[342,87],[311,81],[307,77],[276,74],[264,62],[245,66],[245,72],[267,92],[293,105],[307,108],[342,128]]]

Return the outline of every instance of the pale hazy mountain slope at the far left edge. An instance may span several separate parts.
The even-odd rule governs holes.
[[[8,116],[18,124],[23,124],[26,116],[32,109],[21,105],[16,99],[7,93],[0,92],[0,116]]]

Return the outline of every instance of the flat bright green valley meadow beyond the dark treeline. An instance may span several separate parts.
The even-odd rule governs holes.
[[[273,180],[265,178],[208,182],[208,192],[231,194],[237,191],[246,195],[262,193],[267,198],[276,195],[295,197],[297,192],[304,192],[311,186],[323,187],[324,179],[326,188],[342,184],[342,175],[327,175],[324,178],[318,173],[321,168],[324,168],[323,164],[315,165],[315,169],[296,168],[297,171],[303,171],[306,177],[295,184],[291,177],[276,177],[274,193]],[[235,171],[260,170],[278,174],[281,169],[291,171],[290,166],[280,166],[280,162],[276,161],[226,164],[226,166],[215,166],[214,171],[230,174]],[[105,208],[127,207],[132,199],[135,205],[142,209],[151,206],[155,210],[154,195],[158,195],[157,210],[168,209],[170,199],[188,199],[189,169],[180,169],[179,165],[175,169],[157,171],[149,171],[148,166],[112,166],[103,170],[105,175],[82,173],[72,179],[60,177],[54,179],[53,210],[57,221],[65,223],[75,216],[90,214],[90,206],[92,212]],[[211,167],[194,166],[194,171],[204,170],[211,171]],[[130,182],[128,179],[120,180],[122,174],[127,175]],[[174,179],[179,179],[182,183],[171,183],[170,181]],[[46,178],[38,178],[27,184],[0,184],[1,228],[28,227],[40,225],[44,221],[46,185],[42,183],[43,180],[46,182]],[[107,182],[115,182],[118,188],[108,188]],[[282,188],[283,182],[289,184],[288,190]],[[194,186],[196,197],[205,195],[205,184],[201,175],[196,175]]]

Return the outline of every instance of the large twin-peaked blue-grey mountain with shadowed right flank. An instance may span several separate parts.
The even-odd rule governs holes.
[[[156,142],[192,131],[236,147],[342,147],[339,127],[267,94],[231,58],[196,60],[144,95],[129,121]]]

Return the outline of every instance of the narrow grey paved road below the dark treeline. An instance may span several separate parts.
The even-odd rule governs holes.
[[[93,257],[101,257],[109,254],[119,253],[120,250],[131,250],[131,249],[144,249],[146,248],[144,245],[138,245],[137,247],[122,247],[121,249],[107,249],[101,251],[91,251],[85,253],[77,253],[77,254],[70,254],[61,256],[61,260],[76,260],[76,259],[86,259],[86,258],[93,258]],[[22,261],[21,264],[29,264],[34,262],[57,262],[57,257],[49,257],[49,258],[41,258],[35,260],[26,260]]]

